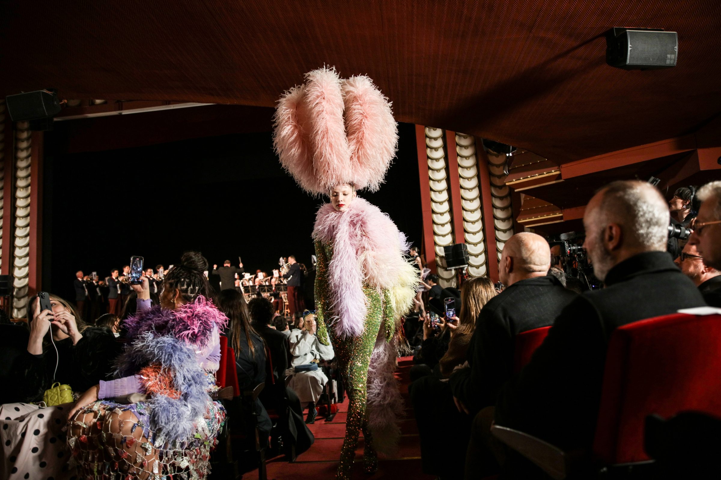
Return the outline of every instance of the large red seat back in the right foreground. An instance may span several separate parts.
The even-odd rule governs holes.
[[[607,464],[648,460],[644,421],[684,410],[721,416],[721,315],[672,314],[611,333],[594,453]]]

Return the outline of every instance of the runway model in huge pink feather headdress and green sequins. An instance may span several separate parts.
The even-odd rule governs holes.
[[[373,473],[376,451],[390,453],[399,438],[394,331],[420,279],[405,259],[405,236],[356,190],[383,183],[397,126],[370,78],[341,79],[329,68],[286,92],[275,122],[280,162],[301,188],[330,199],[318,210],[313,239],[317,338],[332,343],[349,399],[337,479],[350,478],[361,430],[364,467]]]

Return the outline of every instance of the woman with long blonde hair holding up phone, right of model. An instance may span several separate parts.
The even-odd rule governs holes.
[[[451,340],[446,354],[438,361],[442,376],[450,377],[454,367],[466,361],[466,350],[476,329],[476,319],[484,305],[494,296],[493,282],[486,277],[479,276],[463,284],[459,316],[446,319]]]

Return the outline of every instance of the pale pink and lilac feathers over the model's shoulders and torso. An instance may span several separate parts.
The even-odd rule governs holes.
[[[316,214],[314,240],[333,243],[328,266],[330,307],[327,319],[342,336],[358,337],[363,332],[367,299],[363,286],[389,289],[395,286],[406,261],[402,254],[410,248],[387,214],[361,197],[345,212],[324,204]]]

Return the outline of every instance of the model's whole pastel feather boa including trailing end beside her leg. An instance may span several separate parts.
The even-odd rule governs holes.
[[[417,271],[404,257],[410,245],[378,207],[360,197],[345,212],[325,204],[316,215],[313,237],[333,245],[327,271],[333,317],[326,321],[338,335],[361,336],[368,307],[363,286],[389,290],[392,320],[410,309],[419,284]],[[396,358],[396,342],[385,338],[381,326],[368,367],[368,427],[376,450],[386,455],[397,446],[398,415],[403,409],[394,377]]]

